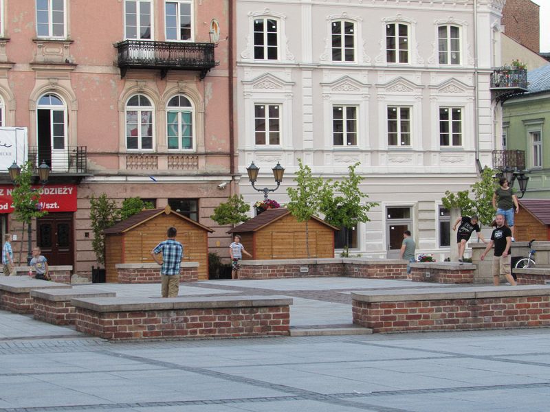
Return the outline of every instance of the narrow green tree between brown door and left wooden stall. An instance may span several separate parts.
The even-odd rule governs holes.
[[[109,200],[107,194],[101,194],[99,197],[90,198],[90,220],[91,230],[94,232],[94,240],[91,247],[96,253],[98,263],[105,263],[105,236],[104,229],[115,224],[120,217],[120,211],[117,209],[116,202]]]

